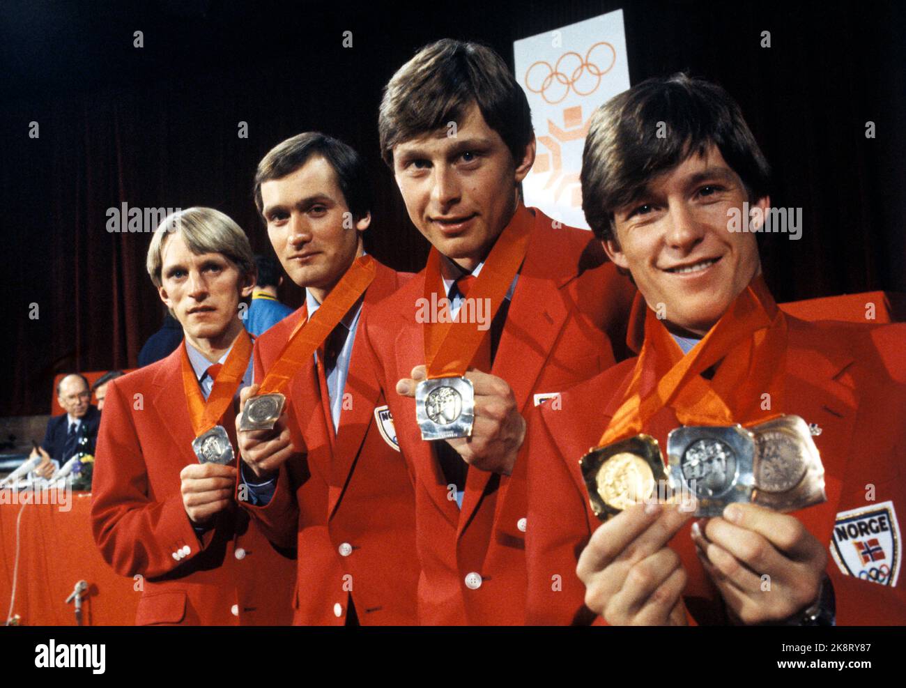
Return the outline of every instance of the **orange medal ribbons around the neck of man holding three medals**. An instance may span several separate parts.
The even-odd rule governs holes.
[[[751,424],[776,417],[772,409],[782,408],[785,354],[786,317],[760,276],[686,355],[649,309],[631,382],[598,446],[639,434],[665,406],[683,425],[732,425],[743,419]],[[718,363],[714,377],[705,380],[700,373]],[[643,382],[646,371],[654,372],[656,382]],[[770,403],[763,409],[766,393]]]

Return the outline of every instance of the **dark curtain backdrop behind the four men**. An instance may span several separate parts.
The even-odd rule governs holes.
[[[514,40],[621,7],[631,82],[688,69],[722,83],[775,170],[772,204],[803,208],[801,240],[767,242],[778,300],[906,291],[903,3],[5,0],[0,415],[48,412],[55,373],[135,366],[159,327],[150,235],[109,233],[107,208],[212,206],[271,252],[255,165],[278,141],[322,130],[371,165],[368,249],[417,270],[428,245],[378,151],[383,84],[440,37],[489,44],[512,66]]]

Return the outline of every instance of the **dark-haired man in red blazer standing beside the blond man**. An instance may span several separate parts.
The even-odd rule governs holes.
[[[365,175],[355,150],[318,132],[283,141],[258,165],[255,202],[306,304],[258,338],[257,383],[363,255],[371,223]],[[404,276],[374,264],[364,294],[295,374],[274,431],[239,432],[255,474],[246,475],[250,486],[238,486],[252,498],[240,503],[275,542],[300,552],[295,624],[417,621],[412,481],[361,336],[374,306]]]

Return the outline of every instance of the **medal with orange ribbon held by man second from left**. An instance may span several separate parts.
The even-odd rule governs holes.
[[[333,328],[340,324],[343,316],[365,293],[377,274],[377,269],[371,256],[355,259],[315,314],[296,329],[284,344],[276,362],[261,382],[258,393],[246,401],[239,417],[240,431],[274,428],[286,402],[284,392],[295,373],[311,359],[333,332]]]

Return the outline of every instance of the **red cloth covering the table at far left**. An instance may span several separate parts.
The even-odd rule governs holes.
[[[82,601],[82,625],[132,625],[140,592],[131,578],[118,576],[98,552],[89,511],[92,496],[72,492],[59,504],[16,503],[0,495],[0,625],[9,611],[15,562],[15,520],[21,509],[19,573],[13,615],[23,625],[75,625],[72,603],[65,599],[80,580],[88,582]],[[14,501],[16,500],[16,501]],[[12,503],[10,503],[12,502]],[[69,506],[69,510],[63,510]]]

